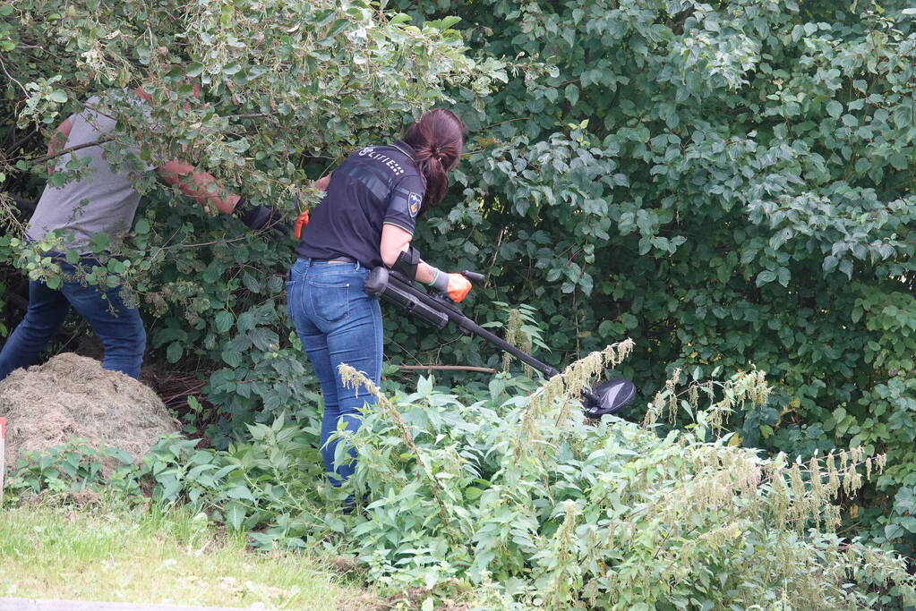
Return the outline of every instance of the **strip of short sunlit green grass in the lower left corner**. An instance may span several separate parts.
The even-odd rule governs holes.
[[[175,605],[371,608],[300,553],[258,553],[206,520],[155,509],[0,509],[0,596]]]

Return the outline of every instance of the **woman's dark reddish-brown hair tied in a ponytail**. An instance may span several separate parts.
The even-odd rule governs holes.
[[[458,165],[464,146],[464,123],[452,111],[434,108],[423,113],[404,134],[416,155],[414,161],[426,178],[426,195],[420,214],[438,204],[449,188],[449,171]]]

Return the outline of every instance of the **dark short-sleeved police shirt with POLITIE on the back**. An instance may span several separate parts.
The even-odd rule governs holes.
[[[426,190],[402,141],[365,146],[346,158],[331,175],[327,194],[312,210],[296,252],[300,257],[353,257],[372,269],[382,265],[382,225],[413,233]]]

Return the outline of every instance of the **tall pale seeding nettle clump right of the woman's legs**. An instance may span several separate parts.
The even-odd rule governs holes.
[[[766,401],[758,371],[683,390],[693,414],[686,432],[655,433],[671,408],[664,393],[643,426],[583,422],[582,389],[631,349],[627,341],[595,352],[499,405],[463,404],[430,381],[389,399],[344,368],[379,402],[352,437],[354,483],[371,502],[348,534],[374,580],[457,582],[507,608],[914,600],[902,558],[835,533],[837,499],[862,486],[861,471],[882,468],[882,456],[854,449],[802,462],[733,445],[723,416]]]

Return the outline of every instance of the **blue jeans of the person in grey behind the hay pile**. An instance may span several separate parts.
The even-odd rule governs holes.
[[[0,350],[0,380],[13,370],[28,367],[63,324],[71,306],[93,327],[102,340],[105,356],[102,367],[122,371],[136,378],[140,375],[147,332],[136,308],[125,306],[120,287],[101,288],[83,284],[76,276],[76,266],[58,258],[64,281],[57,289],[47,284],[28,283],[26,317],[6,339]],[[82,259],[86,272],[100,263],[94,258]]]

